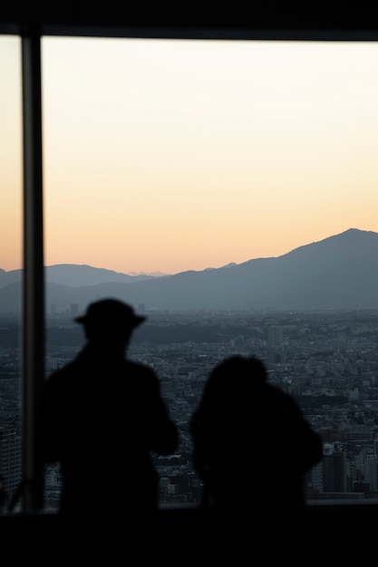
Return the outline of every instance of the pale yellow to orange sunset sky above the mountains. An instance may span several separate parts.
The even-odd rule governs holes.
[[[44,264],[176,274],[378,232],[378,43],[42,38]],[[0,36],[0,268],[22,267]]]

